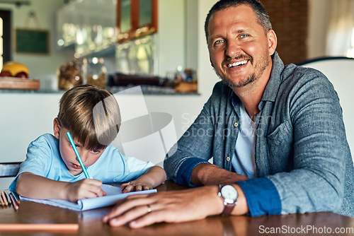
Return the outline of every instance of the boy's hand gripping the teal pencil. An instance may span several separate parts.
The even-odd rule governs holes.
[[[65,190],[67,200],[76,202],[79,199],[90,199],[97,196],[105,196],[101,189],[102,182],[97,179],[81,179],[77,182],[68,182]]]

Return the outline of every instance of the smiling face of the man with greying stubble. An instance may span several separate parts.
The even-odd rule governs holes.
[[[270,72],[270,55],[276,41],[273,30],[265,33],[248,5],[215,12],[208,25],[210,61],[217,74],[232,88],[241,88]]]

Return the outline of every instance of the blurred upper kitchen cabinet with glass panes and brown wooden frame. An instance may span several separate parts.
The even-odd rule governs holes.
[[[57,47],[75,57],[157,32],[157,0],[70,1],[57,11]]]

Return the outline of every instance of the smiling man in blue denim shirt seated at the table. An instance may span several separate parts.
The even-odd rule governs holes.
[[[282,64],[268,14],[256,0],[217,2],[205,34],[223,83],[164,167],[178,184],[206,186],[132,196],[103,222],[139,228],[221,213],[354,216],[353,161],[328,79]]]

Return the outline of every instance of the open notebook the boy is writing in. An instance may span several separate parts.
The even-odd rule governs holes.
[[[129,193],[122,194],[122,190],[120,189],[120,187],[114,187],[108,184],[103,184],[101,188],[103,189],[103,191],[107,193],[106,196],[99,196],[93,199],[81,199],[77,201],[77,203],[67,201],[67,200],[59,200],[59,199],[40,200],[40,199],[28,199],[23,196],[21,196],[20,198],[21,200],[35,201],[38,203],[43,203],[51,206],[68,208],[74,211],[86,211],[95,208],[114,205],[120,199],[124,199],[129,195],[150,194],[157,191],[156,189],[152,189],[152,190],[144,190],[144,191],[131,191]]]

